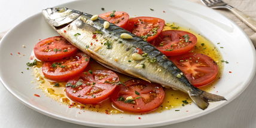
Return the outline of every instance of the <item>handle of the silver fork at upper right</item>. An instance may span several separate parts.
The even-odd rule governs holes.
[[[228,8],[232,13],[234,13],[243,23],[248,25],[256,32],[256,21],[251,19],[248,15],[242,13],[242,11],[237,10],[236,8]]]

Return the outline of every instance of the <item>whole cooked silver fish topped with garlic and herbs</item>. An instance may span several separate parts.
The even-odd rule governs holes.
[[[177,66],[139,36],[91,14],[68,8],[47,8],[42,14],[48,24],[71,44],[90,57],[118,72],[159,83],[187,93],[201,109],[208,102],[226,100],[191,85]],[[124,33],[129,38],[120,36]],[[138,54],[141,49],[144,54]]]

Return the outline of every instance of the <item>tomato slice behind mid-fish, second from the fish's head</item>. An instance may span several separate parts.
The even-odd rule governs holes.
[[[126,29],[146,41],[156,38],[164,27],[164,20],[156,17],[135,17],[129,19]]]

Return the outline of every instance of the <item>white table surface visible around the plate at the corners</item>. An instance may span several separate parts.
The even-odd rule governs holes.
[[[241,0],[242,1],[242,0]],[[27,17],[40,12],[43,8],[68,2],[68,0],[1,0],[0,32],[13,28]],[[163,127],[256,127],[256,77],[251,85],[237,99],[211,114],[183,123]],[[67,123],[39,114],[23,105],[0,83],[0,127],[86,127]]]

